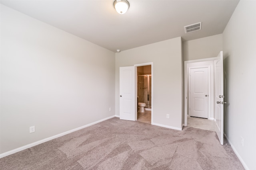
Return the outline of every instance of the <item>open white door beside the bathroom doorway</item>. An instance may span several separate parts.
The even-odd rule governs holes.
[[[120,67],[120,119],[135,121],[135,67]]]

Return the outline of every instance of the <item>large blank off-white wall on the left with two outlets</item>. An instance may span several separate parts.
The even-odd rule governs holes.
[[[114,115],[114,89],[112,51],[1,5],[0,153]]]

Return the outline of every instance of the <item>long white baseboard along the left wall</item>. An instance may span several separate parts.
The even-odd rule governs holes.
[[[78,131],[78,130],[80,130],[80,129],[84,129],[85,127],[89,127],[89,126],[91,126],[91,125],[100,123],[100,122],[102,122],[102,121],[111,119],[111,118],[113,118],[113,117],[116,117],[116,115],[107,117],[107,118],[105,118],[105,119],[101,119],[101,120],[99,120],[99,121],[95,121],[95,122],[93,122],[93,123],[89,123],[89,124],[87,124],[87,125],[84,125],[84,126],[81,126],[81,127],[75,128],[75,129],[72,129],[72,130],[70,130],[70,131],[66,131],[66,132],[60,133],[60,134],[58,134],[58,135],[54,135],[54,136],[52,136],[52,137],[48,137],[48,138],[42,139],[42,140],[40,140],[40,141],[36,141],[36,142],[34,142],[34,143],[30,143],[30,144],[28,144],[28,145],[25,145],[25,146],[23,146],[23,147],[19,147],[19,148],[10,150],[10,151],[8,151],[8,152],[4,152],[4,153],[0,154],[0,158],[3,158],[3,157],[8,156],[8,155],[10,155],[10,154],[14,154],[14,153],[16,153],[16,152],[20,152],[20,151],[22,151],[22,150],[25,150],[25,149],[34,147],[34,146],[36,146],[36,145],[39,145],[39,144],[41,144],[41,143],[50,141],[50,140],[52,140],[52,139],[55,139],[55,138],[58,138],[58,137],[67,135],[68,133],[72,133],[72,132],[74,132],[74,131]]]

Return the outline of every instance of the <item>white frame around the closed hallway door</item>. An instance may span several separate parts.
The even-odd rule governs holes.
[[[194,69],[194,68],[208,68],[208,114],[207,114],[207,119],[210,119],[210,65],[208,66],[192,66],[192,67],[188,67],[188,75],[190,75],[190,70]],[[190,76],[188,76],[188,94],[190,92]],[[190,95],[188,95],[188,107],[190,106]],[[189,111],[188,111],[188,115],[189,115]]]

